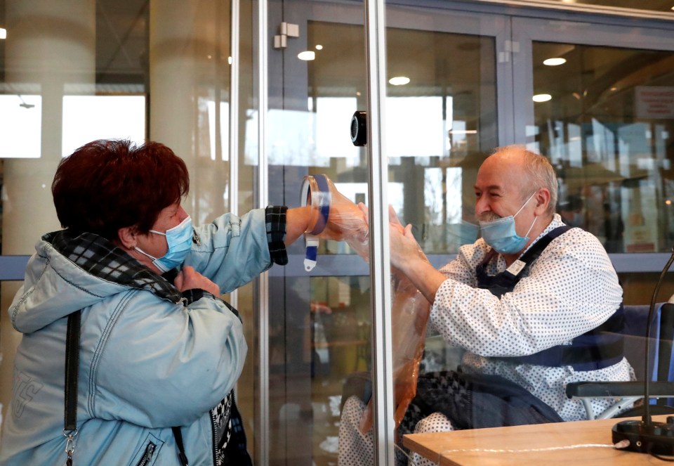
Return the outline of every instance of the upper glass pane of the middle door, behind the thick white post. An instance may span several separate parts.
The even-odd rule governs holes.
[[[365,150],[335,131],[348,124],[355,110],[366,108],[366,84],[352,71],[353,63],[364,60],[362,48],[351,39],[359,34],[357,26],[309,23],[310,44],[323,48],[308,67],[314,137],[305,140],[315,143],[315,151],[305,153],[317,157],[314,167],[335,167],[340,181],[355,183],[345,189],[364,198],[366,172],[349,175],[345,169],[362,168]],[[387,41],[388,76],[409,79],[387,89],[389,202],[401,219],[414,225],[425,252],[453,253],[475,240],[477,232],[464,221],[474,222],[473,181],[496,142],[494,39],[389,27]],[[451,67],[456,60],[465,66]],[[329,75],[340,61],[340,72]]]

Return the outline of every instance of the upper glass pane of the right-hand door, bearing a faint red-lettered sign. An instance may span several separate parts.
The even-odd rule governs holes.
[[[608,252],[664,252],[674,239],[674,53],[534,42],[540,150],[559,211]],[[544,60],[562,58],[561,65]]]

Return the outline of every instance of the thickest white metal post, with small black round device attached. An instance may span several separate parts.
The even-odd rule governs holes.
[[[388,159],[385,155],[384,115],[386,48],[384,0],[365,0],[368,87],[367,136],[369,160],[369,223],[374,457],[377,465],[395,465],[391,287],[388,226]]]

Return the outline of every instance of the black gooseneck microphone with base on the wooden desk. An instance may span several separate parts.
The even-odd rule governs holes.
[[[651,420],[649,403],[649,341],[650,329],[653,319],[653,310],[655,307],[656,296],[662,284],[665,273],[669,270],[674,261],[674,249],[665,268],[660,275],[658,283],[655,285],[651,306],[648,311],[646,321],[646,356],[645,356],[645,380],[644,380],[644,413],[641,420],[625,420],[618,422],[613,426],[612,438],[614,443],[621,440],[629,440],[630,444],[626,450],[637,451],[640,453],[650,453],[652,455],[674,455],[674,416],[667,416],[667,422],[654,422]]]

